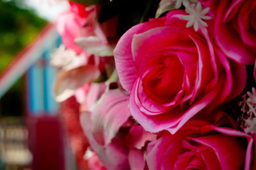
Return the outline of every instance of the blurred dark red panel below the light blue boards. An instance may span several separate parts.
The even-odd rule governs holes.
[[[63,128],[58,116],[29,116],[29,146],[33,170],[65,169]]]

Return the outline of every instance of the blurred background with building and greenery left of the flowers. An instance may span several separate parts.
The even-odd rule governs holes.
[[[67,1],[0,0],[0,169],[76,169],[52,97]]]

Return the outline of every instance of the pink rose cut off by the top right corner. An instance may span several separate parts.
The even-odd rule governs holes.
[[[211,8],[212,32],[220,49],[238,63],[252,65],[256,56],[256,1],[201,1]]]

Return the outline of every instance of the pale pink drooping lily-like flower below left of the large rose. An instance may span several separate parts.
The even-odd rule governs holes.
[[[156,135],[129,118],[129,96],[107,89],[91,109],[81,114],[81,125],[100,162],[107,169],[144,169],[145,144]]]

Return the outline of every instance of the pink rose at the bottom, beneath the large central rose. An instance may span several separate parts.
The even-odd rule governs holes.
[[[148,144],[148,169],[250,169],[252,136],[205,121],[189,121],[175,135]],[[253,166],[253,165],[252,165]]]

